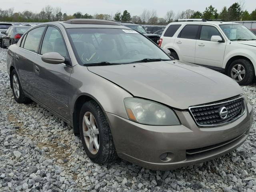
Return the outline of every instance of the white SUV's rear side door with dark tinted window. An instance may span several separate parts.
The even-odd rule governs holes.
[[[198,24],[186,24],[178,34],[173,46],[181,61],[195,63],[196,39],[198,35]]]

